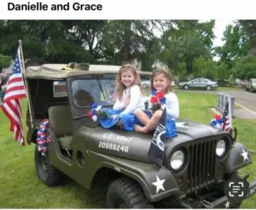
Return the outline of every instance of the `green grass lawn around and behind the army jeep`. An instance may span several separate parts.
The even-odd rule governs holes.
[[[179,91],[177,97],[180,103],[180,118],[209,124],[213,118],[210,108],[216,104],[215,95]],[[26,100],[23,101],[23,107],[25,113]],[[233,125],[238,129],[238,141],[248,149],[255,150],[256,120],[234,119]],[[105,187],[88,191],[72,180],[67,180],[63,185],[54,188],[44,185],[35,172],[33,151],[34,145],[22,147],[15,142],[13,133],[9,132],[9,120],[0,111],[0,207],[104,207]],[[249,179],[256,179],[255,169],[256,156],[253,155],[253,164],[242,168],[240,174],[250,173]],[[256,207],[256,196],[244,201],[241,207]]]

